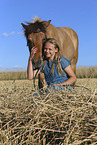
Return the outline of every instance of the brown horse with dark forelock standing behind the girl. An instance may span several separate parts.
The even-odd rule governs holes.
[[[27,25],[22,24],[25,29],[25,36],[29,51],[33,46],[37,47],[37,53],[33,58],[34,67],[40,68],[43,63],[42,41],[46,38],[55,38],[60,45],[61,53],[64,57],[71,60],[71,67],[76,73],[76,63],[78,60],[78,36],[76,32],[68,27],[55,27],[50,21],[42,21],[36,18]]]

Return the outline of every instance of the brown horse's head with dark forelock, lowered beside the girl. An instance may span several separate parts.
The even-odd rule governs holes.
[[[34,67],[40,68],[43,63],[42,58],[42,41],[43,39],[46,39],[46,28],[50,24],[49,20],[47,21],[33,21],[32,23],[28,23],[28,25],[25,25],[23,23],[22,26],[25,29],[24,33],[27,39],[27,46],[29,47],[29,51],[31,52],[32,47],[37,47],[37,52],[32,60]]]

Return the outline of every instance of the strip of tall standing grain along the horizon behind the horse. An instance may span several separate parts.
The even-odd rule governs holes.
[[[77,78],[97,78],[97,66],[77,67]],[[26,80],[26,71],[1,71],[0,80]]]

